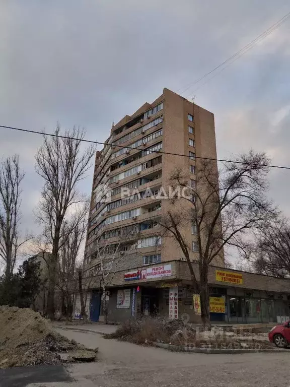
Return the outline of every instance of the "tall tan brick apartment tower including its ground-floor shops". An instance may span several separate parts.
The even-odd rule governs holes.
[[[195,156],[216,158],[213,114],[168,89],[113,125],[104,149],[96,155],[86,243],[92,320],[100,314],[100,262],[95,254],[100,243],[108,256],[118,255],[114,268],[108,268],[113,273],[107,294],[110,320],[153,312],[199,320],[182,251],[173,238],[162,236],[158,226],[170,206],[158,195],[160,188],[169,186],[179,167],[195,184]],[[144,195],[149,188],[150,197]],[[124,191],[130,196],[124,197]],[[191,259],[197,261],[194,225],[189,223],[183,233],[192,246]],[[223,255],[212,265],[212,320],[268,322],[290,314],[287,281],[225,270]]]

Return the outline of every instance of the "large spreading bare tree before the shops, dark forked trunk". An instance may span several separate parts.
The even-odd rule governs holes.
[[[211,327],[209,265],[213,260],[223,261],[225,246],[244,249],[245,237],[276,215],[271,201],[265,196],[268,162],[264,153],[250,151],[233,162],[224,163],[219,172],[215,162],[196,162],[196,182],[190,182],[182,169],[175,170],[171,177],[174,187],[187,188],[187,193],[181,195],[184,199],[174,196],[160,224],[165,235],[173,236],[183,252],[192,287],[200,295],[204,328]],[[191,225],[196,234],[198,273],[192,266],[192,240],[186,236]]]

